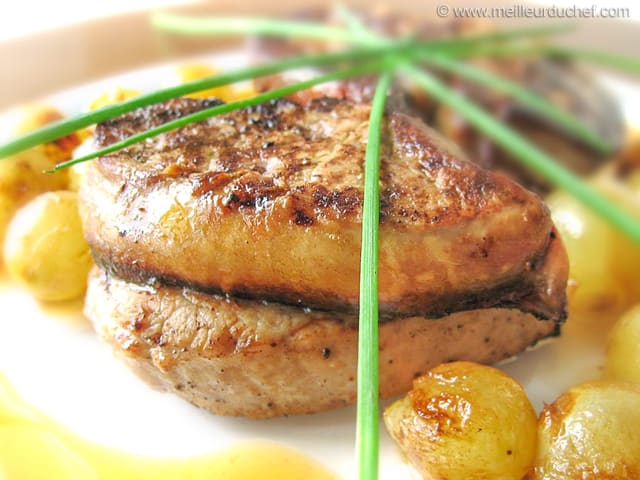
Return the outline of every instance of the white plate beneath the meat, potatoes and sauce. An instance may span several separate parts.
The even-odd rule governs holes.
[[[239,63],[242,58],[237,55],[217,56],[214,61],[218,66]],[[148,90],[163,86],[171,73],[170,66],[149,68],[58,94],[50,101],[66,112],[77,112],[114,85]],[[629,116],[640,112],[635,85],[610,78],[607,83],[625,98]],[[640,124],[637,117],[630,120]],[[5,130],[9,123],[9,116],[0,117]],[[78,306],[42,307],[6,279],[0,280],[0,305],[0,371],[29,403],[88,439],[158,457],[184,457],[242,440],[270,439],[307,453],[345,477],[354,471],[353,407],[263,421],[217,417],[138,380],[98,341]],[[523,383],[538,410],[568,386],[599,376],[606,322],[583,321],[578,328],[574,319],[573,324],[570,321],[559,340],[503,365]],[[593,331],[584,331],[585,325]],[[380,432],[381,478],[409,478],[382,424]]]

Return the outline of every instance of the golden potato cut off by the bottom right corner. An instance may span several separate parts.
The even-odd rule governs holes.
[[[592,382],[540,414],[535,478],[640,478],[640,386]]]

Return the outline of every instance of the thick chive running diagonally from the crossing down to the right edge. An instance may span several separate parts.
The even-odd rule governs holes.
[[[567,190],[635,242],[640,243],[640,222],[560,165],[553,157],[495,120],[475,103],[449,89],[433,75],[411,65],[405,65],[401,70],[439,102],[454,108],[477,130],[514,155],[524,165],[544,176],[557,187]]]

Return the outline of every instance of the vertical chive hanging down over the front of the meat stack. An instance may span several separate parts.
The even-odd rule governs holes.
[[[392,72],[378,80],[369,116],[364,168],[362,250],[360,253],[360,314],[358,323],[358,399],[356,449],[358,478],[378,478],[379,346],[378,249],[380,221],[380,137],[382,117]]]

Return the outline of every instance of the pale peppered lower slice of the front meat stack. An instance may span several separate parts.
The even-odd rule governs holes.
[[[152,385],[220,415],[267,418],[354,403],[357,317],[141,287],[95,269],[85,313]],[[520,310],[484,309],[380,325],[380,395],[450,360],[494,363],[558,332]]]

